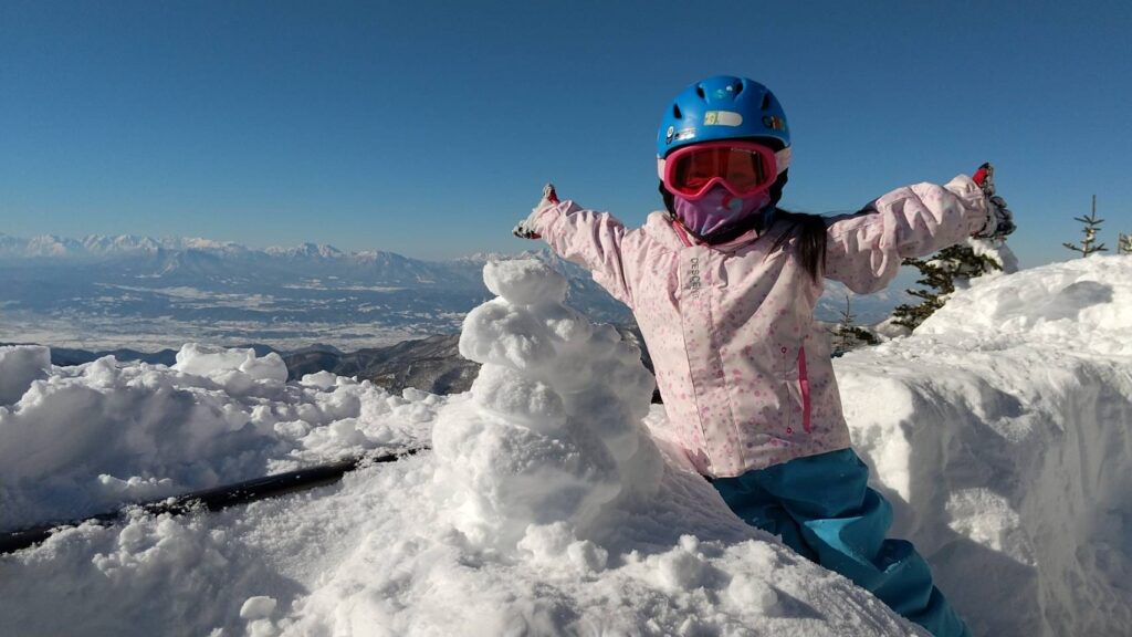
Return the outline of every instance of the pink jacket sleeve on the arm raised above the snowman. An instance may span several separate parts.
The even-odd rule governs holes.
[[[590,270],[598,284],[633,307],[621,257],[626,231],[620,221],[567,199],[547,206],[538,218],[538,228],[555,253]]]

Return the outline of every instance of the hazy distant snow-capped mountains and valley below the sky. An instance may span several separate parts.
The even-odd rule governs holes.
[[[565,274],[571,305],[592,318],[632,321],[588,271],[546,248],[422,261],[315,243],[259,249],[189,237],[0,233],[0,341],[143,350],[190,340],[379,347],[456,332],[488,298],[483,264],[516,256]],[[846,292],[831,283],[818,318],[837,321]],[[854,314],[876,322],[901,299],[892,290],[854,297]]]

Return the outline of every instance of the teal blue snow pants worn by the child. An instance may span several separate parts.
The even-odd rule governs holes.
[[[852,449],[712,484],[747,524],[780,535],[798,553],[848,577],[935,637],[970,637],[911,543],[884,538],[892,506],[868,487],[868,467]]]

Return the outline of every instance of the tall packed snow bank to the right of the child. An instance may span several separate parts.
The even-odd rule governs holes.
[[[972,283],[834,362],[854,442],[975,635],[1125,635],[1132,257]]]

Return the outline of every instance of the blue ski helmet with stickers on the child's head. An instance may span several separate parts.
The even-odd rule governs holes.
[[[782,104],[771,90],[745,77],[715,75],[685,88],[664,111],[657,159],[697,142],[773,139],[790,146]]]

